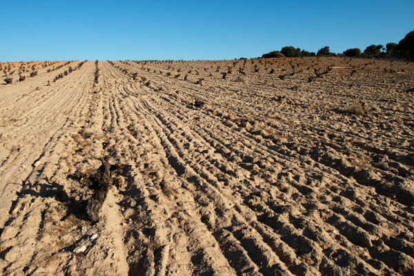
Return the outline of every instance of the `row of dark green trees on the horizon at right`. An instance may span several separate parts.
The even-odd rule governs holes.
[[[282,54],[282,55],[281,55]],[[351,48],[344,52],[335,54],[329,50],[329,46],[324,46],[315,52],[308,52],[295,48],[293,46],[285,46],[280,51],[272,51],[262,55],[263,58],[270,57],[401,57],[407,59],[414,59],[414,30],[408,32],[404,39],[400,42],[387,43],[383,45],[370,45],[362,52],[359,48]]]

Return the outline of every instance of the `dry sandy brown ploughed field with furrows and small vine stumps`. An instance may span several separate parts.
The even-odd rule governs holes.
[[[0,275],[414,275],[413,62],[1,66]]]

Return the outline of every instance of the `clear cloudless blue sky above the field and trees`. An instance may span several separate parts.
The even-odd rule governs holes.
[[[398,42],[414,1],[1,1],[0,61],[235,59]]]

